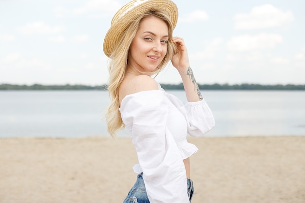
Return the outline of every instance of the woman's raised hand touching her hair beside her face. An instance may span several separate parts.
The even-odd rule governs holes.
[[[184,40],[181,37],[173,37],[172,42],[177,47],[177,53],[172,56],[172,65],[176,69],[187,69],[190,67],[189,55]]]

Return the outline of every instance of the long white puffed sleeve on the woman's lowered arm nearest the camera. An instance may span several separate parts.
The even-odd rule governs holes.
[[[133,137],[149,201],[189,203],[180,152],[167,129],[168,100],[162,91],[127,95],[120,108]]]

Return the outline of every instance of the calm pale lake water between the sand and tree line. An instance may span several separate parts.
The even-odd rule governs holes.
[[[186,101],[183,91],[167,91]],[[202,91],[216,127],[206,136],[305,135],[303,91]],[[2,91],[0,137],[109,136],[104,91]],[[118,136],[129,136],[122,131]]]

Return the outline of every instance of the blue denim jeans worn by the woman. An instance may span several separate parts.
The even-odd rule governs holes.
[[[138,174],[137,179],[131,190],[129,191],[126,199],[124,200],[123,203],[150,203],[146,194],[146,188],[144,185],[144,180],[142,177],[142,174]],[[194,194],[194,187],[193,187],[193,182],[191,179],[187,180],[188,182],[188,195],[190,198],[190,203],[191,199]]]

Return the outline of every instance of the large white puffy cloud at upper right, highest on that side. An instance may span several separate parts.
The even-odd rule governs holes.
[[[270,4],[256,6],[252,8],[250,13],[236,14],[235,29],[264,29],[281,27],[294,20],[294,15],[291,11],[281,11]]]

